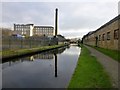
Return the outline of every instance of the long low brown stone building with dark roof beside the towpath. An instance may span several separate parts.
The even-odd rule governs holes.
[[[120,15],[110,20],[95,31],[84,35],[82,42],[87,45],[120,50]]]

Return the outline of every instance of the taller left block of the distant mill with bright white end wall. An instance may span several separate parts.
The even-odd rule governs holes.
[[[33,28],[34,24],[14,24],[14,33],[25,36],[33,36]]]

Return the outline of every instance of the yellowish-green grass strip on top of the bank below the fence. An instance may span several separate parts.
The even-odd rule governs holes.
[[[6,50],[6,51],[0,52],[0,55],[2,56],[2,58],[8,58],[13,56],[20,56],[24,54],[34,53],[38,51],[40,52],[40,51],[50,50],[50,49],[54,49],[62,46],[64,45],[42,46],[37,48],[20,49],[20,50]]]

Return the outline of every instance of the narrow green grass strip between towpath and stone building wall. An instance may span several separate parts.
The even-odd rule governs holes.
[[[98,50],[98,51],[104,53],[105,55],[113,58],[114,60],[120,61],[120,57],[118,55],[120,53],[120,51],[104,49],[104,48],[99,48],[99,47],[93,47],[93,48],[95,48],[96,50]]]

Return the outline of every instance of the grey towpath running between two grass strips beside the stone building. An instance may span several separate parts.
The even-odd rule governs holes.
[[[89,46],[86,47],[91,52],[91,55],[95,56],[97,60],[103,65],[106,72],[108,72],[109,76],[111,77],[113,87],[118,88],[118,66],[120,66],[120,63],[97,51],[94,48],[91,48]]]

